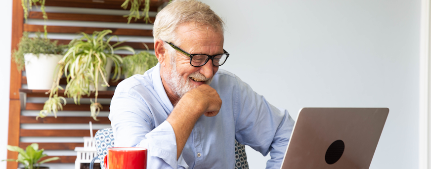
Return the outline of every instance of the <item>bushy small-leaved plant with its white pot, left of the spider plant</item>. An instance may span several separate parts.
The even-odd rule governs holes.
[[[18,50],[12,52],[18,71],[26,68],[27,86],[29,89],[49,89],[53,82],[53,75],[61,55],[66,49],[65,45],[57,45],[57,41],[41,37],[41,33],[29,38],[27,32],[23,33],[18,43]]]

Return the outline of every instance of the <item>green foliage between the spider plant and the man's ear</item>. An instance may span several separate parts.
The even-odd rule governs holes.
[[[159,61],[156,55],[142,51],[134,55],[129,55],[123,58],[123,71],[125,78],[136,74],[144,74],[148,69],[156,66]]]

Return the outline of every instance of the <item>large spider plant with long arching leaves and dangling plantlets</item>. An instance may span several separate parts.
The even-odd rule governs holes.
[[[134,53],[133,48],[130,46],[119,46],[123,42],[117,42],[110,44],[112,38],[117,36],[106,37],[106,35],[112,33],[111,30],[104,30],[101,32],[95,31],[92,35],[86,33],[80,33],[82,38],[74,39],[69,43],[69,49],[64,54],[63,59],[59,62],[59,71],[57,75],[57,81],[52,85],[50,89],[49,98],[43,106],[43,110],[39,113],[38,117],[46,117],[47,115],[54,113],[56,116],[57,110],[62,109],[61,100],[64,101],[63,97],[58,96],[58,89],[63,89],[59,85],[59,79],[64,75],[67,79],[67,85],[64,90],[64,94],[69,98],[73,98],[75,104],[80,104],[80,99],[83,95],[90,95],[90,85],[95,88],[95,100],[91,100],[90,111],[91,117],[97,121],[97,115],[102,109],[100,103],[97,102],[98,95],[98,82],[99,79],[103,80],[104,86],[109,86],[106,80],[109,77],[105,77],[106,70],[105,65],[108,59],[112,59],[115,65],[114,76],[112,79],[115,81],[120,79],[121,67],[120,64],[123,62],[120,55],[115,54],[116,50],[129,50]],[[118,39],[118,37],[117,37]]]

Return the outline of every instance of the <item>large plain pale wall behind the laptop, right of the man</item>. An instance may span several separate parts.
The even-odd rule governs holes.
[[[370,169],[418,168],[420,0],[202,0],[226,22],[222,69],[296,119],[388,107]],[[269,156],[247,149],[251,169]]]

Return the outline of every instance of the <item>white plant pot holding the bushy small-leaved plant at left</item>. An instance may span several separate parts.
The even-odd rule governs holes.
[[[50,89],[57,77],[57,64],[63,58],[59,54],[24,54],[27,86],[29,89]],[[54,76],[55,75],[55,76]]]

